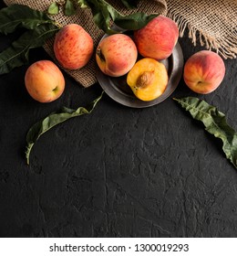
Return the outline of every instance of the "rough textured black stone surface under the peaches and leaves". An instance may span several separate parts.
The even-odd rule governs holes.
[[[0,49],[16,36],[0,35]],[[203,49],[187,35],[179,41],[184,60]],[[50,58],[43,48],[31,50],[29,64],[39,59]],[[28,129],[62,106],[85,106],[101,89],[84,89],[64,73],[62,97],[43,104],[26,92],[28,65],[0,76],[0,236],[236,237],[236,169],[221,140],[172,100],[204,99],[237,129],[236,64],[225,60],[222,85],[208,95],[183,80],[169,99],[147,109],[104,95],[91,114],[42,135],[30,166]]]

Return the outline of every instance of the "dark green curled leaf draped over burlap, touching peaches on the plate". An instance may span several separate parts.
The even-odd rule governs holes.
[[[127,1],[127,4],[130,4],[129,6],[131,6],[132,2],[136,1]],[[104,0],[77,0],[77,3],[81,7],[88,6],[91,9],[94,22],[98,28],[102,29],[107,34],[122,32],[124,29],[137,30],[141,27],[145,27],[152,18],[158,16],[158,14],[146,15],[144,13],[123,16],[118,10]],[[119,31],[112,29],[111,21],[121,29]]]

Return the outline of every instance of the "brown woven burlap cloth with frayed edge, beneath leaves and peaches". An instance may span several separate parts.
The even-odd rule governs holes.
[[[53,2],[52,0],[4,0],[6,5],[21,4],[28,5],[44,11]],[[237,55],[237,1],[236,0],[140,0],[136,10],[128,11],[120,4],[121,1],[108,0],[124,15],[133,12],[158,13],[169,16],[177,22],[180,28],[180,37],[185,29],[189,31],[189,36],[195,45],[197,41],[206,48],[216,50],[223,58],[236,58]],[[56,16],[52,16],[62,26],[69,23],[77,23],[84,27],[94,40],[95,48],[104,32],[99,30],[94,24],[92,14],[89,9],[82,9],[77,5],[77,14],[74,16],[64,16],[63,11]],[[48,40],[44,48],[53,58],[53,41]],[[56,63],[57,60],[55,59]],[[58,66],[60,66],[57,63]],[[82,69],[66,70],[78,83],[84,87],[97,82],[95,76],[95,58],[88,62]],[[62,67],[61,67],[62,68]]]

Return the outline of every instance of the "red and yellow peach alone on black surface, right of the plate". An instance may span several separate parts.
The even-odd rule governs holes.
[[[193,54],[184,65],[183,79],[191,91],[207,94],[216,90],[225,75],[222,58],[211,50]]]

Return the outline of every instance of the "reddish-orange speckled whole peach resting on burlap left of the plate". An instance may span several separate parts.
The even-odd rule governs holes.
[[[65,69],[81,69],[86,66],[93,50],[92,37],[77,24],[62,27],[55,37],[55,56]]]

